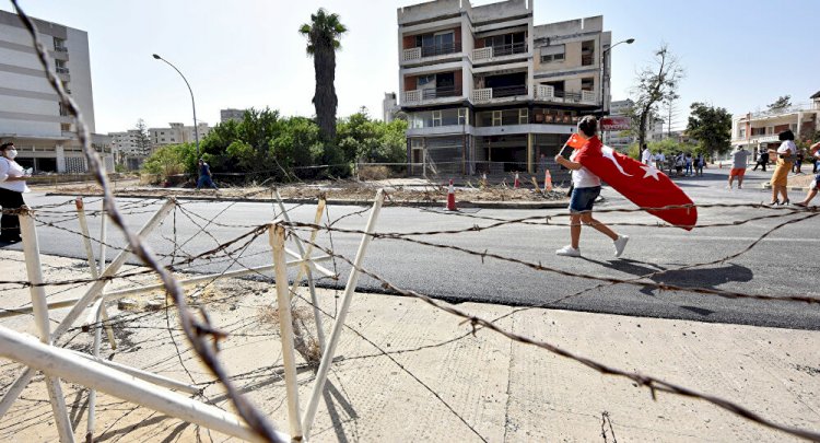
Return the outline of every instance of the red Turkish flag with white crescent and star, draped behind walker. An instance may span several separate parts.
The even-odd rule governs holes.
[[[574,160],[641,208],[691,206],[647,209],[651,214],[687,231],[698,223],[698,208],[666,174],[604,145],[598,137],[587,140]]]

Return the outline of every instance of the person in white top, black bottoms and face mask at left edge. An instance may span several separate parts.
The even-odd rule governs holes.
[[[0,207],[3,208],[0,218],[0,242],[20,242],[20,220],[16,214],[7,213],[8,210],[19,209],[23,201],[23,193],[28,193],[25,179],[31,175],[14,159],[17,150],[14,143],[0,144]]]

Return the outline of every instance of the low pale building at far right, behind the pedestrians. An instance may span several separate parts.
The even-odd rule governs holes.
[[[731,119],[731,144],[745,145],[750,151],[776,148],[777,133],[790,129],[797,139],[809,139],[820,130],[820,92],[810,102],[783,109],[746,113]]]

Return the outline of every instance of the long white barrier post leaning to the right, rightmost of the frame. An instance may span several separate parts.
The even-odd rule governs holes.
[[[319,406],[319,399],[321,393],[325,389],[325,382],[327,382],[327,374],[330,371],[330,364],[333,362],[333,354],[336,353],[336,346],[339,343],[339,337],[344,328],[344,319],[348,316],[348,310],[350,308],[350,302],[353,299],[353,292],[356,289],[359,282],[359,268],[362,266],[364,260],[364,254],[367,252],[367,246],[371,243],[371,234],[376,225],[376,219],[382,210],[382,203],[385,199],[384,189],[379,189],[376,193],[375,201],[373,202],[373,210],[371,217],[367,220],[367,225],[364,229],[365,234],[362,236],[362,243],[359,245],[359,250],[353,259],[353,268],[350,270],[350,277],[348,278],[348,284],[344,287],[344,295],[342,295],[342,304],[339,308],[339,315],[336,317],[333,323],[333,329],[330,333],[330,341],[328,341],[325,353],[321,354],[321,363],[319,363],[319,371],[316,374],[316,382],[311,393],[311,401],[307,404],[307,410],[305,410],[305,417],[302,421],[302,428],[304,429],[305,439],[311,436],[311,428],[313,427],[313,420],[316,416],[316,408]]]

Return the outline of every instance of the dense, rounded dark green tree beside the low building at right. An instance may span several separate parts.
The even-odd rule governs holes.
[[[692,103],[687,136],[698,140],[706,152],[725,154],[731,150],[731,114],[726,108]]]

